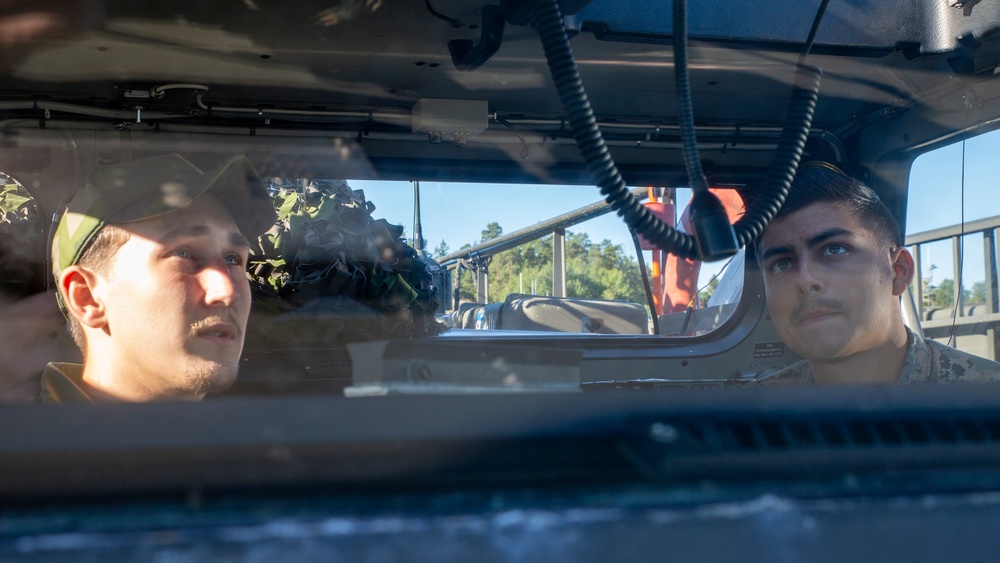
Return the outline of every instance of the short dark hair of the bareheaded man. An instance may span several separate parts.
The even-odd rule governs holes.
[[[893,247],[904,245],[899,222],[875,190],[825,162],[808,162],[799,166],[788,197],[772,221],[784,219],[814,203],[827,203],[846,209],[877,240]],[[760,237],[754,242],[754,249],[759,259]]]

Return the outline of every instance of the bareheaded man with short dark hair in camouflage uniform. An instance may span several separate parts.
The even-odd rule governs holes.
[[[755,250],[775,329],[805,358],[773,381],[1000,380],[1000,364],[903,324],[900,296],[913,279],[913,257],[875,192],[835,167],[800,168]]]

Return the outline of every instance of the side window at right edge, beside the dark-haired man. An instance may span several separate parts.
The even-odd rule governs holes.
[[[906,243],[924,335],[1000,359],[995,154],[1000,131],[918,157],[910,170]]]

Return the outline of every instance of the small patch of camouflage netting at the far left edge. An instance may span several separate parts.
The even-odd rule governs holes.
[[[28,190],[0,172],[0,292],[27,297],[44,287],[45,241]]]

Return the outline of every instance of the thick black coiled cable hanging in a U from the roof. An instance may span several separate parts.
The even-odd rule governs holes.
[[[684,0],[674,0],[674,2],[681,3]],[[556,85],[556,91],[566,112],[573,137],[580,149],[591,180],[600,188],[601,194],[605,196],[605,201],[625,220],[630,228],[642,234],[657,247],[683,258],[699,258],[692,236],[677,231],[650,213],[626,187],[625,181],[618,172],[618,167],[604,143],[587,93],[584,91],[583,81],[580,79],[580,72],[573,59],[569,37],[563,26],[562,14],[559,11],[557,0],[534,0],[532,21],[541,39],[549,72],[552,74],[552,81]],[[680,43],[678,42],[678,44]],[[686,45],[686,41],[683,43]],[[675,46],[675,62],[676,49]],[[684,74],[686,81],[687,73]],[[805,149],[806,140],[809,138],[812,117],[819,99],[821,74],[822,72],[817,67],[799,65],[797,68],[785,127],[782,129],[778,149],[768,171],[764,188],[760,190],[762,197],[753,198],[747,207],[747,212],[733,225],[737,242],[741,246],[760,236],[768,222],[781,209],[781,205],[788,195],[788,190],[791,188],[792,180],[795,178],[795,172],[802,158],[802,152]],[[693,112],[690,119],[692,120],[691,131],[693,132]],[[693,137],[693,134],[691,136]],[[685,141],[685,158],[689,159],[691,158],[691,155],[687,154],[690,150],[688,149],[689,143],[687,139]],[[697,144],[694,139],[692,139],[690,146],[694,147],[693,158],[697,162]],[[689,168],[689,173],[690,170]],[[695,170],[701,170],[700,162]],[[699,181],[704,182],[704,180],[696,178],[692,178],[691,181],[693,184]]]

